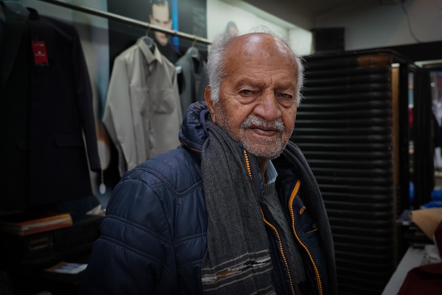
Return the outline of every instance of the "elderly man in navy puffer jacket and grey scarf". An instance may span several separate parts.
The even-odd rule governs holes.
[[[336,294],[322,197],[289,137],[303,65],[272,33],[216,37],[182,145],[126,172],[79,294]]]

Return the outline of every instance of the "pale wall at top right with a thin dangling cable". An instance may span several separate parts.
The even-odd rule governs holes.
[[[355,1],[317,17],[315,27],[344,27],[346,50],[442,41],[442,0],[405,0],[403,6],[408,18],[400,3]]]

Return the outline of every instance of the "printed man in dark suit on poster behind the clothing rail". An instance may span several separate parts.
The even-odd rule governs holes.
[[[172,13],[169,2],[167,0],[150,0],[150,3],[150,23],[165,29],[172,29]],[[169,42],[169,35],[159,31],[155,31],[154,34],[155,42],[159,51],[163,53],[170,62],[175,63],[182,54]]]

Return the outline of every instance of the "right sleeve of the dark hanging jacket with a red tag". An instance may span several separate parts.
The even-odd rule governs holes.
[[[75,77],[75,95],[78,103],[80,120],[86,140],[89,166],[92,171],[101,171],[98,155],[95,116],[93,111],[93,94],[89,72],[78,32],[73,28],[72,68]]]

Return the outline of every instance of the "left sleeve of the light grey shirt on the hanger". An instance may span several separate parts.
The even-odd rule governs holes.
[[[124,58],[118,56],[109,81],[103,125],[108,131],[118,151],[118,170],[120,176],[128,170],[128,164],[135,157],[135,136],[132,125],[130,105],[129,76]]]

